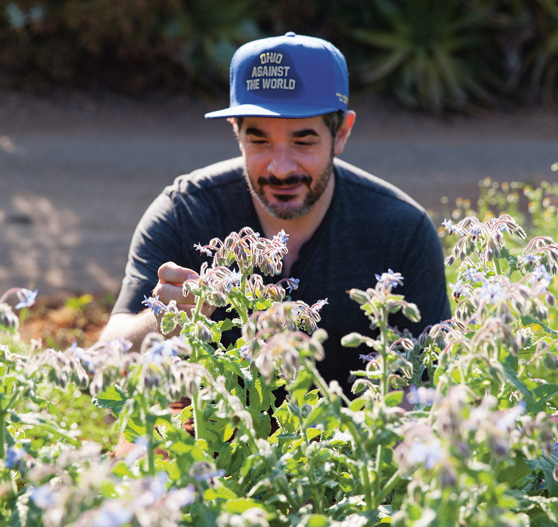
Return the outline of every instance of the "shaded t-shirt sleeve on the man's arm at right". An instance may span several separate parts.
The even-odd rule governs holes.
[[[394,293],[403,294],[408,302],[417,304],[421,320],[412,323],[399,311],[390,317],[389,323],[400,330],[407,328],[416,337],[426,326],[451,317],[444,254],[436,228],[424,213],[408,241],[401,264],[403,286]]]

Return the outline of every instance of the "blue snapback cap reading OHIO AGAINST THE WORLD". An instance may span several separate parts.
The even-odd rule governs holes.
[[[262,38],[239,47],[230,62],[230,105],[224,117],[299,119],[347,110],[349,73],[341,52],[321,38]]]

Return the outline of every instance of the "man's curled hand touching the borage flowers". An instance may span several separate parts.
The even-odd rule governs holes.
[[[191,310],[196,308],[196,297],[192,293],[187,293],[184,296],[182,291],[182,284],[186,280],[198,280],[200,275],[193,271],[192,269],[187,269],[186,267],[180,267],[174,262],[163,263],[157,271],[159,281],[153,289],[153,296],[159,296],[159,300],[165,304],[168,304],[171,300],[176,301],[176,307],[180,311],[185,311],[190,314]],[[214,307],[208,304],[203,304],[201,306],[201,313],[206,317],[210,317],[211,313],[215,310]],[[157,316],[157,323],[160,325],[162,318],[162,313]]]

